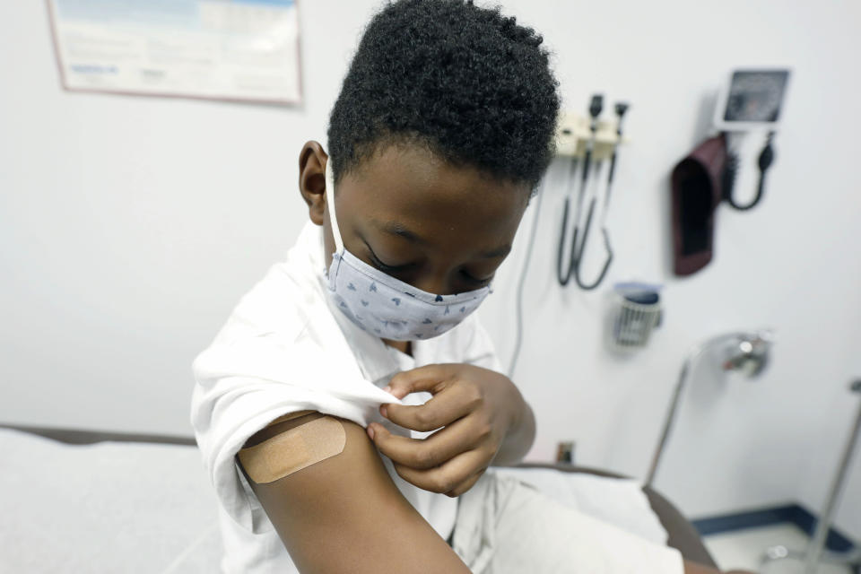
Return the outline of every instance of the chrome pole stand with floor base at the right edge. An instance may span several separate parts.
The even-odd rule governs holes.
[[[850,384],[849,391],[861,395],[861,379]],[[861,570],[861,546],[850,552],[831,552],[825,550],[828,531],[831,529],[831,519],[834,517],[840,493],[843,490],[843,484],[846,482],[849,461],[852,459],[852,454],[858,442],[859,430],[861,430],[861,405],[858,408],[855,424],[852,425],[852,431],[849,433],[846,448],[843,449],[843,456],[840,458],[837,474],[834,475],[834,479],[831,481],[831,491],[829,491],[825,504],[822,506],[819,522],[816,524],[816,530],[807,549],[804,552],[796,552],[788,550],[783,545],[772,546],[762,556],[761,564],[763,566],[771,561],[792,560],[804,562],[804,574],[814,574],[822,563],[843,564],[852,567],[855,572]]]

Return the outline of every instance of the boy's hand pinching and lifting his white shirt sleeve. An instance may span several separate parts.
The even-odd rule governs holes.
[[[433,394],[422,405],[381,405],[379,411],[389,421],[413,431],[445,428],[426,439],[407,439],[371,423],[370,438],[405,481],[452,497],[478,481],[525,408],[508,377],[467,364],[407,370],[393,377],[387,390],[398,398],[419,391]]]

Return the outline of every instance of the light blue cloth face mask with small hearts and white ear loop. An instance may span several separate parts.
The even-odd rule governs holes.
[[[430,339],[457,326],[491,292],[490,285],[455,295],[421,291],[347,251],[335,215],[331,161],[326,161],[326,203],[335,236],[335,253],[326,272],[328,294],[362,330],[394,341]]]

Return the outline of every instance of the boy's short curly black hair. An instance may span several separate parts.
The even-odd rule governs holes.
[[[392,143],[532,191],[555,153],[559,83],[543,38],[500,7],[389,2],[370,20],[329,118],[335,181]]]

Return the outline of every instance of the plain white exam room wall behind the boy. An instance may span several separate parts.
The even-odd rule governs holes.
[[[377,5],[300,4],[306,103],[284,109],[65,92],[44,3],[0,4],[0,421],[190,434],[191,360],[305,220],[300,146],[326,145]],[[861,375],[858,4],[504,5],[556,52],[568,107],[585,109],[593,91],[631,101],[605,284],[665,283],[667,305],[648,350],[626,360],[604,350],[604,294],[553,278],[554,164],[516,377],[539,419],[529,458],[575,439],[579,463],[645,474],[691,345],[772,326],[763,378],[725,384],[697,371],[657,486],[696,516],[790,500],[818,509],[857,409],[846,384]],[[704,135],[704,110],[736,65],[794,69],[777,161],[761,207],[719,210],[713,264],[675,279],[668,174]],[[531,217],[482,311],[504,358]],[[839,526],[861,536],[857,461]]]

